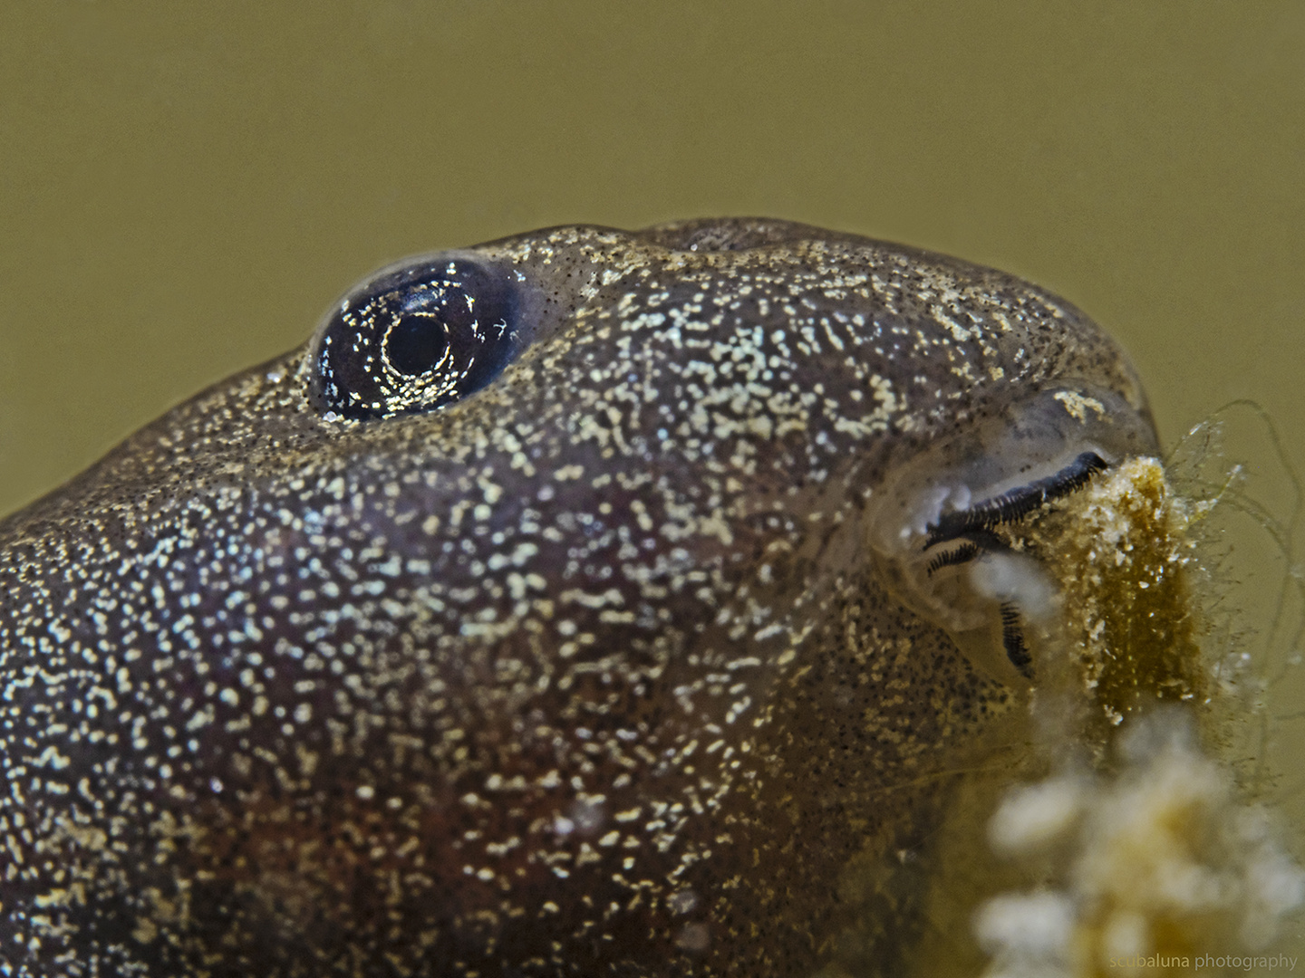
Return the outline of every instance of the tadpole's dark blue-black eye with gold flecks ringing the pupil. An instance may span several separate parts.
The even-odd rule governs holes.
[[[510,276],[472,258],[382,271],[350,292],[318,333],[312,395],[351,419],[432,411],[484,387],[514,348]]]

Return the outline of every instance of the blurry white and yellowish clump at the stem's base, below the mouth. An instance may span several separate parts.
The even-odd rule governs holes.
[[[985,978],[1218,973],[1206,965],[1268,947],[1305,904],[1305,872],[1185,713],[1121,734],[1114,773],[1013,789],[993,815],[994,852],[1051,871],[975,914]]]

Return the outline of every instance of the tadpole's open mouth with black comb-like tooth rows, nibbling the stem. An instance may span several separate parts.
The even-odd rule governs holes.
[[[882,578],[993,678],[1036,681],[1028,629],[1051,627],[1058,588],[1022,527],[1155,445],[1150,419],[1113,391],[1011,402],[899,466],[872,499]]]

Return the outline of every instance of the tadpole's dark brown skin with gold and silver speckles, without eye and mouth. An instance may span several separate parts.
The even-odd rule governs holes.
[[[1053,382],[1144,415],[1126,361],[804,226],[462,254],[534,330],[484,390],[338,420],[299,348],[0,523],[0,974],[894,971],[1011,691],[868,501]]]

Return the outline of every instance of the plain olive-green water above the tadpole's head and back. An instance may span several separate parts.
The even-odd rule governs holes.
[[[5,0],[0,512],[406,253],[711,214],[1034,279],[1305,471],[1297,0]]]

